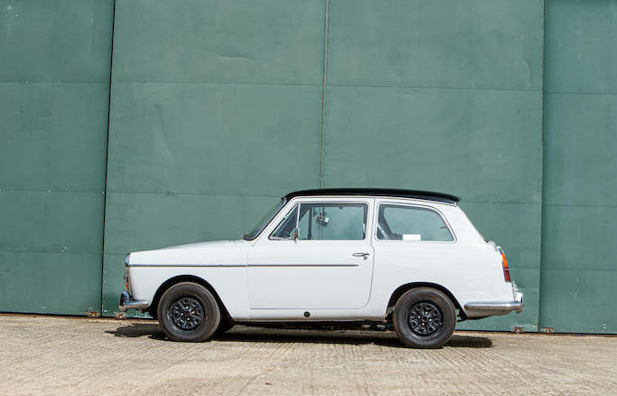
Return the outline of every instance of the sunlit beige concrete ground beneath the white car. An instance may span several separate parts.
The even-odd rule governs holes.
[[[617,337],[236,326],[202,344],[154,321],[0,316],[0,395],[617,394]]]

